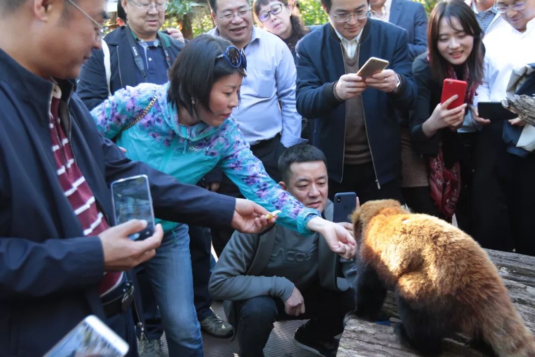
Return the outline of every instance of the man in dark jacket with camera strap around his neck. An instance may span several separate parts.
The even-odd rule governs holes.
[[[89,110],[117,89],[165,83],[167,71],[184,47],[167,33],[158,32],[164,23],[166,0],[121,0],[121,5],[128,25],[106,35],[108,53],[93,51],[80,72],[77,93]]]

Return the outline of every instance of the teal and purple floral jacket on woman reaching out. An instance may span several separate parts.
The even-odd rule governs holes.
[[[231,117],[219,127],[202,121],[193,126],[179,124],[177,107],[167,102],[169,83],[142,83],[117,90],[108,100],[91,111],[98,130],[106,138],[116,138],[133,160],[168,173],[182,183],[196,184],[204,174],[218,166],[249,200],[269,211],[281,210],[277,224],[301,234],[310,234],[307,222],[320,216],[304,207],[284,191],[264,170]],[[155,104],[147,115],[121,132],[145,110],[152,98]],[[176,223],[162,222],[164,231]]]

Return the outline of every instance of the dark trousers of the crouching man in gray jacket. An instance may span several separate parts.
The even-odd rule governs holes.
[[[327,290],[316,284],[301,291],[305,313],[289,316],[284,312],[284,302],[270,296],[259,296],[234,303],[236,313],[236,336],[240,345],[241,357],[262,357],[273,330],[273,323],[282,320],[313,320],[315,335],[318,338],[332,338],[343,331],[343,317],[353,307],[353,290],[338,292]]]

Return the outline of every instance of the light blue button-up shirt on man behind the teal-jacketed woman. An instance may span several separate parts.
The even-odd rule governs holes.
[[[219,36],[219,31],[216,27],[208,34]],[[280,141],[285,147],[301,142],[292,52],[278,36],[256,27],[244,50],[247,77],[241,85],[240,104],[232,111],[243,136],[250,145],[281,132]]]

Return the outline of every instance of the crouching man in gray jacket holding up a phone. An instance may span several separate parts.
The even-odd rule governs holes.
[[[322,151],[306,144],[289,147],[279,158],[279,172],[283,189],[332,220]],[[351,231],[350,224],[345,227]],[[295,343],[334,356],[334,336],[342,332],[343,317],[354,301],[353,290],[339,276],[340,265],[318,233],[300,236],[277,224],[260,234],[235,232],[212,273],[210,293],[225,300],[240,356],[263,356],[275,321],[307,318],[295,332]]]

